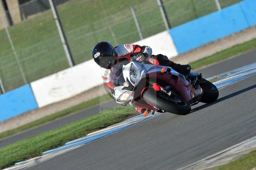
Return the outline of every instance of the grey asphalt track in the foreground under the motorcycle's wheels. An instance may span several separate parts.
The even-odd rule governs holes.
[[[186,116],[160,114],[28,169],[176,169],[256,135],[256,74]]]

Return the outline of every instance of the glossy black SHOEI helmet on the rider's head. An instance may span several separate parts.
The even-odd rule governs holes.
[[[92,50],[94,61],[101,67],[110,69],[115,64],[117,53],[108,42],[100,42]]]

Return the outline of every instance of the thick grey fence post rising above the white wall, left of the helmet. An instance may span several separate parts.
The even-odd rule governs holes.
[[[59,34],[60,34],[61,43],[63,45],[66,57],[68,59],[68,64],[69,64],[70,67],[75,66],[75,61],[74,61],[74,58],[72,56],[71,50],[69,48],[68,40],[67,40],[67,37],[65,35],[64,29],[62,27],[57,8],[53,4],[52,0],[49,0],[49,3],[50,3],[51,9],[52,9],[52,14],[53,14],[53,17],[55,19],[55,22],[56,22],[56,25],[57,25],[57,28],[58,28],[58,31],[59,31]]]

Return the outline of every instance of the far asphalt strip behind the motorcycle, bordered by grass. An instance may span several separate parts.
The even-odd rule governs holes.
[[[248,53],[230,58],[228,60],[224,60],[224,61],[215,63],[206,68],[197,70],[196,72],[203,73],[204,78],[209,78],[214,75],[217,75],[217,74],[220,74],[223,72],[227,72],[227,71],[233,70],[235,68],[239,68],[241,66],[245,66],[245,65],[255,62],[256,61],[255,54],[256,54],[256,50],[252,50]],[[92,116],[93,114],[96,114],[100,111],[100,107],[114,107],[116,105],[117,104],[114,101],[109,101],[104,104],[100,104],[100,106],[95,106],[95,107],[86,109],[84,111],[68,115],[68,116],[60,118],[58,120],[54,120],[49,123],[46,123],[42,126],[32,128],[25,132],[4,138],[2,140],[0,139],[0,147],[6,146],[11,143],[15,143],[17,141],[26,139],[28,137],[32,137],[34,135],[43,133],[48,130],[59,128],[63,125],[69,124],[69,123],[77,121],[77,120],[84,119],[88,116]]]

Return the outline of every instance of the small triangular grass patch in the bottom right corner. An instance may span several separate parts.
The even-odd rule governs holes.
[[[252,151],[235,161],[225,164],[218,168],[218,170],[250,170],[254,167],[256,167],[256,151]]]

